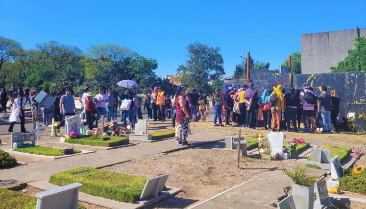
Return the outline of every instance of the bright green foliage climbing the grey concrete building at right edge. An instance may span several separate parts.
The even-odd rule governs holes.
[[[366,71],[366,37],[356,37],[354,45],[337,67],[330,67],[332,72]]]

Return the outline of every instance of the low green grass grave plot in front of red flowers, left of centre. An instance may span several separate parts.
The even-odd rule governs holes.
[[[129,140],[125,137],[112,137],[111,139],[102,141],[102,135],[89,135],[83,136],[79,139],[65,139],[65,142],[73,143],[73,144],[83,144],[90,146],[104,146],[104,147],[112,147],[112,146],[121,146],[123,144],[128,144]]]

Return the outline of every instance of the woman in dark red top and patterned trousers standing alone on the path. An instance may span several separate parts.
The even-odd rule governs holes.
[[[177,136],[176,140],[178,145],[181,146],[191,146],[187,142],[188,137],[188,129],[189,129],[189,122],[192,118],[192,110],[189,105],[189,101],[187,101],[186,95],[187,88],[185,86],[178,86],[175,91],[176,95],[176,122],[179,123],[177,127]]]

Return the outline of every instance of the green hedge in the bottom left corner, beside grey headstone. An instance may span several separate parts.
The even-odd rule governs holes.
[[[0,187],[1,209],[35,209],[37,198]]]

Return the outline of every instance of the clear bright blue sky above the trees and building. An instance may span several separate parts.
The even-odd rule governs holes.
[[[25,49],[55,40],[87,50],[127,46],[158,62],[156,74],[175,74],[193,42],[219,46],[227,76],[239,55],[270,63],[293,51],[300,34],[366,27],[365,0],[1,0],[0,35]]]

